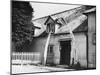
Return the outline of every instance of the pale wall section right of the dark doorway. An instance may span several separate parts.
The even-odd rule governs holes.
[[[75,44],[72,45],[71,59],[74,58],[74,63],[80,63],[82,67],[87,67],[86,59],[86,35],[84,33],[75,34]]]

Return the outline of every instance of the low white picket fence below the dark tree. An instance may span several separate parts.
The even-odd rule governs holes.
[[[13,52],[12,64],[38,64],[41,62],[39,52]]]

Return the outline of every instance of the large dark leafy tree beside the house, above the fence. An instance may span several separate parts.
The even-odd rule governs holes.
[[[33,39],[32,13],[33,8],[29,2],[12,1],[12,42],[15,51],[22,51]]]

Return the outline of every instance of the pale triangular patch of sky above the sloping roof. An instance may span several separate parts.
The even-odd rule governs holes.
[[[80,5],[69,5],[69,4],[65,5],[65,4],[36,3],[36,2],[30,2],[30,4],[34,9],[33,20],[80,6]]]

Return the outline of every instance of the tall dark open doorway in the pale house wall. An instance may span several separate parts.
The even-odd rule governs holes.
[[[60,65],[70,65],[71,40],[60,41]]]

